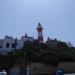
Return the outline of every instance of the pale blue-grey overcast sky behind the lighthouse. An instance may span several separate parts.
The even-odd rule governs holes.
[[[25,33],[37,38],[40,22],[47,37],[75,45],[75,0],[0,0],[0,38],[20,38]]]

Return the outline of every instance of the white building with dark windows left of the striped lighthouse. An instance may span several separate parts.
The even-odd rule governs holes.
[[[5,36],[4,39],[0,39],[0,53],[7,54],[8,52],[15,50],[15,48],[19,50],[24,46],[24,42],[33,42],[33,40],[33,37],[28,36],[22,36],[21,39]]]

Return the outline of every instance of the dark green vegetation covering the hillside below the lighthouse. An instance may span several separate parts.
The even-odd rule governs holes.
[[[25,42],[21,50],[15,50],[13,54],[0,55],[0,67],[12,67],[15,61],[41,62],[44,64],[58,65],[60,62],[74,62],[75,48],[71,44],[58,40],[47,40],[45,43]]]

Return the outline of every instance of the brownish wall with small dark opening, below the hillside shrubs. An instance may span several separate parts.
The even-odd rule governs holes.
[[[30,71],[32,75],[42,75],[42,74],[53,74],[55,73],[55,67],[51,65],[45,65],[42,63],[31,63]]]

